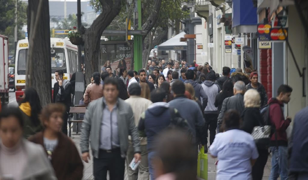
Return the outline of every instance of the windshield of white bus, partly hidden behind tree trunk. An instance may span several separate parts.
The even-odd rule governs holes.
[[[65,54],[63,48],[53,48],[51,53],[51,72],[54,73],[55,69],[63,69],[66,73]],[[28,49],[21,49],[18,52],[18,67],[17,72],[19,75],[26,74],[26,60],[28,59]]]

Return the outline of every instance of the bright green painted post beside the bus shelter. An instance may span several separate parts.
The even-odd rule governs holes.
[[[137,0],[138,10],[138,30],[142,30],[141,25],[141,0]],[[142,35],[134,35],[134,69],[138,71],[142,68]]]

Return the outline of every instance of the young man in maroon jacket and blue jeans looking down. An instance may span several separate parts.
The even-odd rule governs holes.
[[[279,175],[281,180],[287,180],[289,174],[288,164],[288,139],[286,129],[291,123],[291,117],[284,118],[283,105],[288,104],[292,88],[286,84],[279,86],[277,97],[270,98],[269,117],[275,126],[275,133],[271,137],[270,151],[272,152],[272,168],[269,180],[276,180]]]

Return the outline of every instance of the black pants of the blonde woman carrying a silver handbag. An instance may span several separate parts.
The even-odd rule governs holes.
[[[259,157],[257,158],[256,163],[252,166],[252,179],[253,180],[262,180],[264,167],[269,156],[267,149],[258,149]]]

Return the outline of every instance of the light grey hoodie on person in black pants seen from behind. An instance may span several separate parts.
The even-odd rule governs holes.
[[[219,85],[215,84],[213,81],[205,80],[201,86],[204,89],[205,94],[208,96],[208,104],[204,110],[204,113],[218,114],[218,108],[215,107],[214,103],[217,94],[221,91]]]

